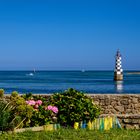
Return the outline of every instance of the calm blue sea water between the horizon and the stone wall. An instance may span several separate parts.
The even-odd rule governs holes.
[[[140,75],[124,72],[123,82],[113,71],[0,71],[0,88],[6,93],[54,93],[75,88],[86,93],[140,93]]]

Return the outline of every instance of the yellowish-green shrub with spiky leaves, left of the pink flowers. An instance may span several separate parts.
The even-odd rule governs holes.
[[[9,101],[0,101],[0,131],[30,126],[33,107],[27,105],[24,98],[11,96]]]

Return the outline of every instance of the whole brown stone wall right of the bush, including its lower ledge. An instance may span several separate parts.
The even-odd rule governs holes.
[[[140,129],[140,94],[90,95],[103,116],[116,115],[126,129]]]

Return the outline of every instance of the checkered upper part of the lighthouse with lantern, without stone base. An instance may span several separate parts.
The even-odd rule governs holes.
[[[116,72],[116,74],[123,73],[120,51],[117,51],[117,54],[116,54],[115,72]]]

